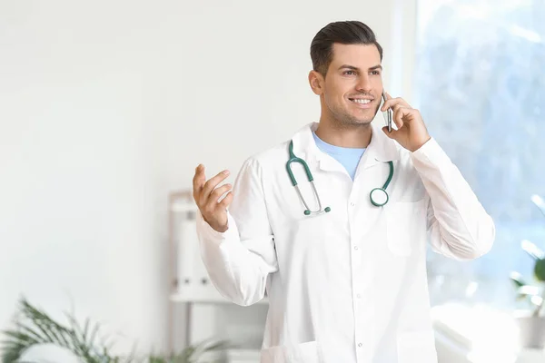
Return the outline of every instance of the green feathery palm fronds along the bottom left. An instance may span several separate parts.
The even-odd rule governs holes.
[[[136,358],[133,353],[129,357],[118,357],[111,352],[114,341],[101,337],[100,326],[89,319],[82,326],[72,314],[66,314],[68,324],[62,324],[24,298],[20,300],[18,313],[15,328],[2,332],[2,363],[51,361],[42,356],[37,361],[25,356],[32,348],[46,346],[56,348],[55,357],[62,356],[66,359],[63,361],[77,363],[197,363],[203,361],[206,353],[231,348],[224,340],[203,341],[184,348],[179,354],[149,354]],[[62,355],[59,355],[59,350]],[[49,353],[51,352],[49,349]]]

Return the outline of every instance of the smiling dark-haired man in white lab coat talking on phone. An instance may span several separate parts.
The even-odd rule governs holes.
[[[197,167],[203,262],[225,298],[267,294],[263,363],[435,363],[426,243],[476,259],[494,223],[419,111],[389,95],[381,106],[382,49],[367,25],[325,26],[311,57],[320,123],[246,160],[233,192],[229,172],[207,181]],[[393,110],[391,132],[372,124],[380,108]],[[309,168],[291,164],[296,186],[291,157]]]

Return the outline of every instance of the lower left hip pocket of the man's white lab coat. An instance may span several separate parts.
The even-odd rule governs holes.
[[[316,341],[262,350],[261,363],[322,363]]]

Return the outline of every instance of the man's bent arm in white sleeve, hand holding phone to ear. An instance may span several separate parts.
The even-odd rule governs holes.
[[[382,130],[411,152],[412,163],[430,196],[428,230],[433,250],[453,259],[471,260],[492,247],[494,222],[463,179],[461,172],[431,139],[421,113],[402,98],[391,98],[382,111],[393,109],[397,130]]]

